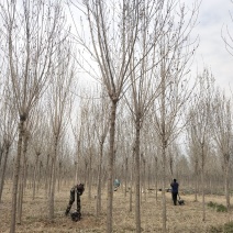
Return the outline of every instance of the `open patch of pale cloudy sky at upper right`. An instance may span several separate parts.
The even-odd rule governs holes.
[[[198,34],[200,37],[196,55],[198,70],[201,71],[203,65],[210,67],[217,85],[229,93],[229,86],[233,91],[233,56],[225,48],[221,31],[223,30],[223,35],[226,35],[224,27],[228,25],[233,37],[233,22],[230,12],[233,13],[231,0],[202,0],[198,25],[192,32],[193,35]]]

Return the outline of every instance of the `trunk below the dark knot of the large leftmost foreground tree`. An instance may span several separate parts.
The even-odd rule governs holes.
[[[24,134],[24,122],[25,118],[20,118],[19,123],[19,138],[18,138],[18,152],[16,158],[14,160],[14,174],[13,174],[13,188],[12,188],[12,201],[11,201],[11,225],[10,233],[15,232],[15,222],[16,222],[16,196],[18,196],[18,185],[19,185],[19,176],[20,176],[20,160],[22,154],[22,143],[23,143],[23,134]]]

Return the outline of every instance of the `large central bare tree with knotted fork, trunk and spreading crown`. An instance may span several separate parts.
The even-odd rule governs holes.
[[[116,107],[125,81],[129,78],[129,64],[137,38],[140,1],[118,2],[115,4],[113,1],[87,0],[84,1],[84,8],[82,5],[77,7],[82,10],[88,20],[91,46],[78,32],[77,42],[84,46],[88,56],[91,56],[98,64],[100,71],[98,76],[111,100],[107,232],[112,232],[112,184]],[[90,65],[89,60],[86,59],[85,62]],[[93,67],[93,65],[89,67]],[[96,75],[96,77],[98,76]]]

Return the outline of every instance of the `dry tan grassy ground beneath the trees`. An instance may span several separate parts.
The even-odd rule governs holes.
[[[102,195],[102,213],[96,218],[95,207],[96,190],[92,190],[92,197],[89,200],[88,191],[81,196],[81,214],[78,222],[73,222],[70,217],[65,217],[64,212],[69,200],[69,189],[71,186],[63,187],[56,192],[55,199],[55,219],[53,222],[47,220],[47,207],[44,190],[36,192],[36,198],[32,200],[32,189],[25,190],[23,202],[22,223],[16,224],[16,232],[106,232],[106,202],[107,197]],[[181,195],[185,206],[173,206],[170,193],[167,196],[167,229],[170,233],[204,233],[210,232],[211,226],[218,228],[229,221],[232,221],[232,213],[217,212],[207,207],[207,221],[202,221],[201,197],[198,202],[193,201],[193,196]],[[114,191],[113,198],[113,232],[126,233],[135,232],[134,204],[130,212],[130,195],[124,197],[121,188]],[[213,201],[224,204],[223,196],[207,196],[207,203]],[[75,209],[75,204],[74,204]],[[162,230],[162,197],[158,192],[158,201],[155,199],[155,192],[146,193],[146,199],[142,197],[142,232],[163,232]],[[7,185],[3,191],[2,202],[0,203],[0,233],[9,232],[11,219],[11,187]],[[212,232],[212,231],[211,231]],[[221,232],[221,231],[217,231]]]

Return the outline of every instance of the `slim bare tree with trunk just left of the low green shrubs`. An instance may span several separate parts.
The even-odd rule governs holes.
[[[204,175],[208,155],[210,154],[211,137],[211,104],[213,95],[212,74],[204,69],[199,77],[199,99],[192,107],[190,126],[191,137],[199,156],[199,166],[201,171],[201,191],[202,191],[202,221],[206,221],[206,199],[204,199]]]

